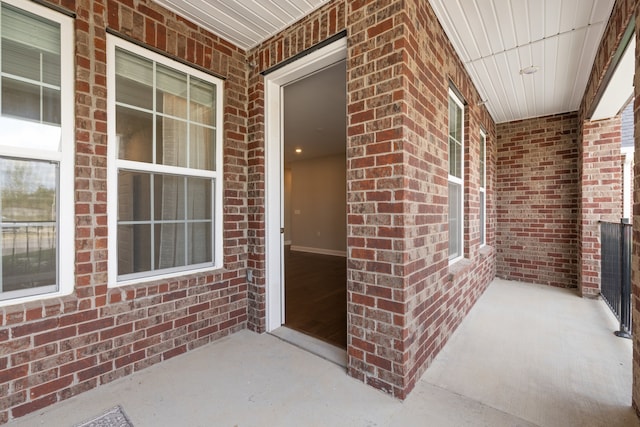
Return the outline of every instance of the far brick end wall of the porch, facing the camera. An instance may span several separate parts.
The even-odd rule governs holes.
[[[502,123],[497,133],[497,275],[575,287],[577,115]]]

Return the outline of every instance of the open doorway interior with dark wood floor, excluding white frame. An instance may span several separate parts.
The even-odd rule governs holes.
[[[347,346],[346,64],[283,88],[285,326]]]

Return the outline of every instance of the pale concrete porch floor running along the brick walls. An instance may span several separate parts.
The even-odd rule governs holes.
[[[496,279],[404,402],[242,331],[9,425],[69,427],[121,405],[135,427],[640,427],[616,326],[602,301]]]

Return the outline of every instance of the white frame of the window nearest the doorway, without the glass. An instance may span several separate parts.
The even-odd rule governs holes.
[[[117,136],[116,136],[116,71],[115,59],[116,48],[121,48],[127,52],[137,54],[141,57],[155,61],[164,66],[171,67],[177,71],[187,73],[193,77],[211,82],[216,86],[216,123],[215,123],[215,170],[207,171],[201,169],[190,169],[177,166],[167,166],[151,163],[135,162],[130,160],[121,160],[117,156]],[[107,167],[107,214],[108,214],[108,237],[109,237],[109,260],[108,260],[108,287],[118,287],[142,283],[155,280],[169,279],[178,276],[184,276],[194,273],[210,272],[214,269],[223,267],[223,208],[222,208],[222,180],[223,180],[223,162],[222,162],[222,98],[224,94],[223,81],[217,77],[192,68],[181,62],[172,60],[166,56],[145,49],[142,46],[130,43],[114,35],[107,35],[107,112],[109,121],[107,124],[108,132],[108,167]],[[118,171],[127,169],[140,172],[178,174],[183,176],[212,178],[214,179],[213,187],[213,208],[211,211],[213,220],[213,241],[211,249],[213,252],[213,261],[204,264],[194,265],[193,268],[186,266],[169,270],[152,270],[135,275],[128,275],[126,278],[118,277]]]

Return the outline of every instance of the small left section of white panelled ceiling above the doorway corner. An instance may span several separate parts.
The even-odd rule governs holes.
[[[154,0],[244,50],[329,0]]]

